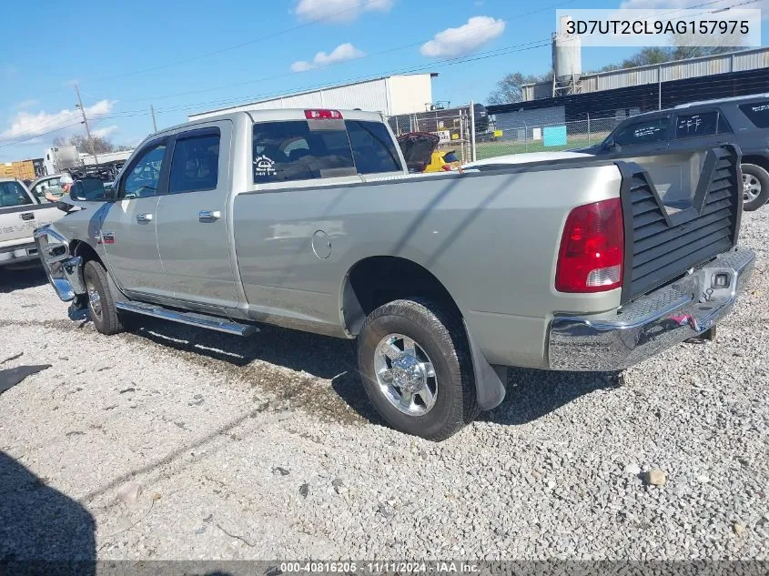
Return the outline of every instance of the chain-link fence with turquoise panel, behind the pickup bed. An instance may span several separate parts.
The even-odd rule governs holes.
[[[476,154],[484,158],[589,147],[609,136],[624,117],[586,118],[560,124],[505,126],[476,134]]]

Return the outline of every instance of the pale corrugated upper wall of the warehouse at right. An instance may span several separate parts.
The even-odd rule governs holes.
[[[639,66],[626,70],[582,76],[582,94],[628,86],[657,84],[660,82],[660,77],[664,83],[766,67],[769,67],[769,48],[756,48],[744,52],[705,56],[661,65]],[[551,96],[551,82],[524,86],[522,90],[522,97],[525,102]]]

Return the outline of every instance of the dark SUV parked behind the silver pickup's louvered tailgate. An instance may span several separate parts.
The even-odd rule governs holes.
[[[693,102],[622,122],[601,144],[579,152],[653,154],[677,147],[734,143],[743,152],[744,209],[769,199],[769,94]]]

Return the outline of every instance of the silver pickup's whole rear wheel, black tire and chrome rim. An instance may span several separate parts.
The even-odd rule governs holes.
[[[371,312],[358,362],[371,403],[394,429],[440,441],[478,415],[464,327],[429,300],[395,300]]]

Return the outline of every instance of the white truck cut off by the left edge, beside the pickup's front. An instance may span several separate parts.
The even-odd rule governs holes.
[[[36,261],[35,228],[63,216],[56,205],[31,194],[21,180],[0,177],[0,267]]]

